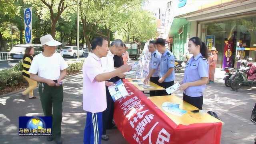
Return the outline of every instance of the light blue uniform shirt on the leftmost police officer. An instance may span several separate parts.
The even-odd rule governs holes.
[[[152,77],[158,77],[160,74],[159,67],[160,67],[160,62],[161,62],[161,54],[158,52],[158,50],[155,50],[154,52],[151,53],[151,58],[149,62],[149,71],[152,69],[156,69],[154,74],[152,74]]]

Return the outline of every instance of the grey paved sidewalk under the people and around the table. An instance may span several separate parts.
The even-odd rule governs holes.
[[[183,72],[176,73],[182,80]],[[256,102],[256,87],[243,87],[238,92],[226,88],[224,72],[216,71],[216,83],[207,86],[204,94],[204,110],[212,110],[225,122],[222,128],[222,144],[253,144],[256,125],[250,122],[252,107]],[[38,89],[34,91],[38,95]],[[182,92],[176,92],[182,98]],[[45,137],[18,136],[18,116],[42,116],[39,99],[13,94],[0,98],[0,144],[54,144]],[[62,138],[64,144],[82,144],[86,112],[82,109],[82,74],[64,80]],[[110,140],[102,144],[127,144],[121,133],[108,130]]]

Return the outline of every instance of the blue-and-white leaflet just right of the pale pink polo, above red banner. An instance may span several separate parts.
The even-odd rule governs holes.
[[[115,82],[115,85],[109,86],[108,90],[114,102],[119,98],[122,98],[128,95],[128,92],[124,87],[122,80],[118,80],[117,82]]]

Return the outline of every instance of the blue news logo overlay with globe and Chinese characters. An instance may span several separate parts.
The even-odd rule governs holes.
[[[20,116],[19,136],[52,136],[52,117]]]

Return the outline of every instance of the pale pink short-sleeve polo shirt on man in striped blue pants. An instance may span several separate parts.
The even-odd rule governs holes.
[[[87,112],[103,112],[107,108],[105,81],[95,80],[102,73],[101,59],[94,53],[89,53],[83,64],[83,109]]]

